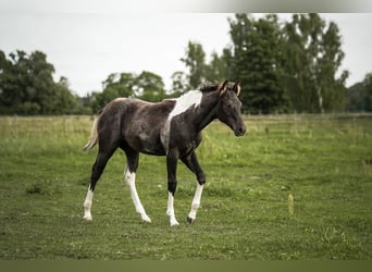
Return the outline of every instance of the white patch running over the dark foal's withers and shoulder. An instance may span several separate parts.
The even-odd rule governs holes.
[[[168,120],[165,121],[164,128],[161,133],[161,141],[168,152],[169,143],[170,143],[170,132],[171,132],[171,122],[173,118],[179,115],[181,113],[187,111],[191,107],[198,107],[201,103],[202,92],[200,90],[190,90],[181,97],[174,99],[175,106],[173,110],[168,115]]]

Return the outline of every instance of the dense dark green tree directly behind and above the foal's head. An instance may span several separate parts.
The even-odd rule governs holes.
[[[226,60],[234,77],[241,82],[243,110],[287,111],[288,99],[281,85],[283,39],[277,16],[270,14],[256,21],[247,14],[235,14],[228,22],[233,46]]]

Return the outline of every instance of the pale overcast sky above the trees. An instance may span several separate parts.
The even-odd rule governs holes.
[[[100,91],[109,74],[122,72],[156,73],[170,89],[172,74],[186,72],[179,59],[189,40],[200,42],[207,57],[213,51],[221,53],[231,42],[227,17],[233,13],[168,11],[165,5],[156,7],[156,1],[141,9],[144,0],[137,0],[136,5],[104,2],[112,4],[102,8],[102,1],[96,0],[0,0],[0,50],[5,54],[15,50],[45,52],[54,65],[55,79],[66,77],[70,88],[85,96]],[[290,16],[280,14],[282,20]],[[372,72],[372,13],[321,16],[335,22],[340,30],[346,54],[342,70],[350,72],[347,86],[361,82]]]

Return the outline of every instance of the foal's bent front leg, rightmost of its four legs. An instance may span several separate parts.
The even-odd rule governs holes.
[[[187,222],[193,224],[196,220],[196,214],[200,206],[201,194],[202,194],[202,189],[206,183],[206,175],[202,169],[200,168],[198,158],[195,152],[190,153],[186,158],[183,158],[182,161],[186,164],[186,166],[189,170],[191,170],[195,173],[198,180],[198,185],[195,190],[194,199],[191,202],[191,210],[187,215]]]

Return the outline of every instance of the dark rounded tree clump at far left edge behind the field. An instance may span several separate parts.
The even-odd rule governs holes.
[[[61,114],[74,113],[77,97],[67,79],[53,81],[54,67],[40,51],[0,51],[0,113]]]

